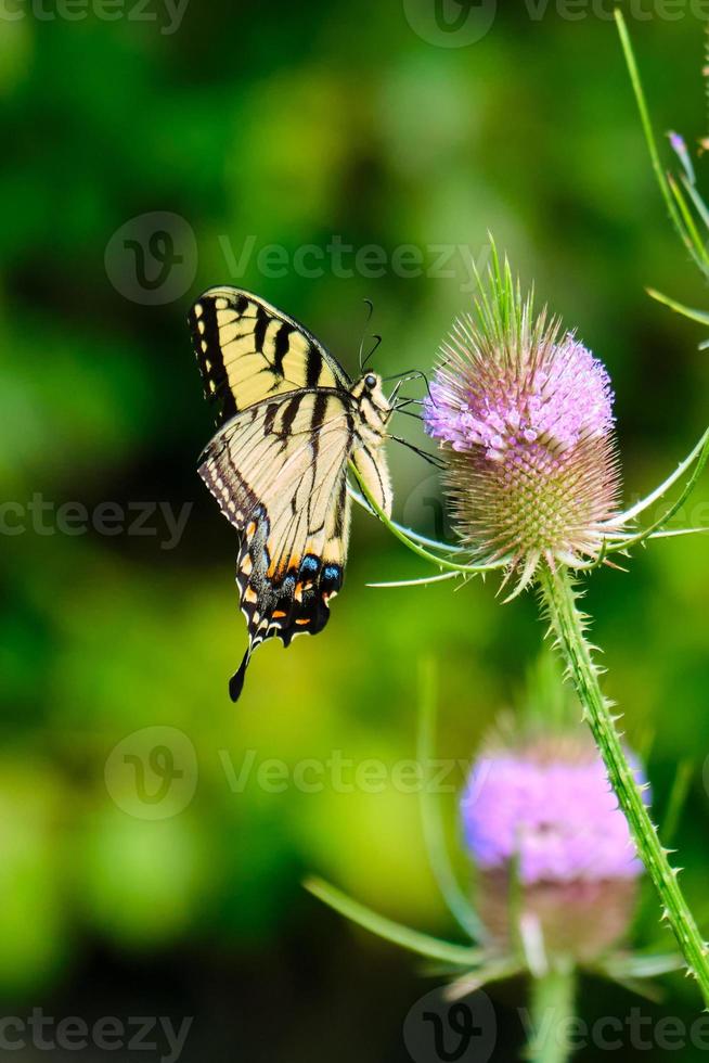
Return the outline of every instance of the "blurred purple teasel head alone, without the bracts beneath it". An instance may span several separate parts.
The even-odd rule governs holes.
[[[643,866],[584,731],[495,732],[473,765],[461,814],[493,936],[514,936],[515,892],[520,918],[531,917],[552,949],[589,959],[622,936]]]

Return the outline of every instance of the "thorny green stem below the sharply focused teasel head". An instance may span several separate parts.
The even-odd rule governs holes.
[[[584,717],[603,757],[608,779],[637,845],[662,905],[662,920],[669,922],[682,950],[688,971],[699,984],[705,1004],[709,1008],[709,961],[694,917],[678,882],[678,871],[670,867],[668,850],[662,848],[657,828],[649,818],[641,790],[628,763],[610,703],[604,697],[598,682],[598,669],[593,663],[585,641],[585,617],[578,607],[568,569],[542,569],[542,594],[549,609],[552,628],[566,659],[568,675],[573,681],[583,706]]]

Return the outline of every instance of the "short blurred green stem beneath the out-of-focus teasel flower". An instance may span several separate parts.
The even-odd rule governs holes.
[[[566,1063],[571,1056],[568,1020],[573,1019],[576,972],[559,966],[532,981],[529,1040],[530,1063]]]

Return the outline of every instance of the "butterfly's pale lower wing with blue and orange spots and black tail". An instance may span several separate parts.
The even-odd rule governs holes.
[[[212,439],[199,475],[241,534],[236,581],[249,645],[230,686],[266,639],[317,635],[341,586],[349,532],[347,396],[294,392],[236,414]]]

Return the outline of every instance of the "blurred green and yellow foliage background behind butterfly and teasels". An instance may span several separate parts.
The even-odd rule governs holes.
[[[115,21],[74,21],[64,9],[50,18],[51,8],[11,0],[3,9],[0,471],[2,500],[23,507],[27,527],[0,543],[2,1015],[194,1015],[189,1061],[410,1059],[402,1023],[435,982],[319,907],[300,881],[318,872],[452,936],[416,796],[390,779],[382,792],[337,792],[332,774],[313,793],[292,774],[272,792],[281,787],[263,785],[259,769],[335,755],[389,770],[411,758],[428,657],[440,675],[441,753],[468,758],[539,653],[532,595],[503,607],[492,581],[455,593],[368,589],[424,569],[358,513],[327,632],[287,653],[262,649],[234,709],[225,681],[245,642],[236,543],[195,475],[211,422],[184,317],[204,287],[259,292],[351,372],[371,298],[377,368],[427,369],[469,306],[465,264],[491,230],[606,361],[628,497],[667,475],[707,423],[704,336],[644,293],[653,284],[706,303],[665,218],[613,23],[553,5],[532,17],[519,5],[454,48],[444,33],[433,42],[417,33],[414,9],[426,13],[423,0],[191,0],[175,33],[162,31],[157,0],[145,9],[152,22],[128,17],[130,7]],[[704,136],[704,23],[684,11],[631,16],[630,29],[657,128]],[[133,259],[106,248],[154,212],[194,233],[194,279],[144,305],[116,286]],[[383,248],[387,265],[371,270],[381,276],[336,276],[326,252],[317,276],[294,265],[298,248],[334,236]],[[249,244],[239,271],[230,252]],[[284,276],[258,261],[270,244],[285,249]],[[391,268],[402,245],[418,248],[421,276]],[[450,276],[427,276],[437,245],[459,248]],[[422,441],[415,421],[400,428]],[[397,514],[440,530],[431,470],[396,445],[389,454]],[[107,501],[191,510],[178,546],[164,549],[159,516],[153,535],[107,536],[61,534],[50,514],[40,534],[26,509],[35,496],[53,512],[67,501],[89,513]],[[5,532],[17,512],[3,510]],[[705,486],[685,518],[708,517]],[[707,543],[667,541],[629,567],[594,577],[594,637],[629,741],[648,751],[658,817],[678,763],[693,759],[679,845],[707,926]],[[151,733],[193,765],[170,794],[175,808],[141,803],[114,770],[123,750],[152,747],[136,734],[144,728],[162,729]],[[240,786],[233,773],[249,763]],[[460,769],[453,778],[460,785]],[[448,805],[454,836],[452,795]],[[146,818],[154,808],[166,816]],[[648,905],[641,943],[657,936]],[[497,994],[494,1059],[515,1058],[524,1002],[520,984]],[[589,982],[581,1012],[626,1016],[637,1003]],[[697,1007],[682,978],[661,1004],[643,1004],[687,1022]]]

